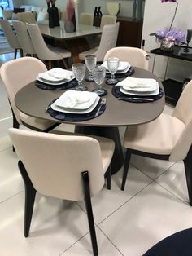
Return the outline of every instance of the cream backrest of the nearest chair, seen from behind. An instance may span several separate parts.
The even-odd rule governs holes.
[[[104,184],[101,150],[96,139],[11,128],[15,151],[33,187],[43,195],[83,200],[81,172],[89,172],[91,195]]]

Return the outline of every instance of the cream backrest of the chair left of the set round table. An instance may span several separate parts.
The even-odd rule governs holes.
[[[29,82],[36,80],[38,73],[45,72],[46,65],[33,57],[23,57],[17,60],[10,60],[2,64],[0,69],[2,82],[7,90],[11,108],[16,120],[20,121],[20,111],[15,106],[15,95],[18,90],[26,86]]]

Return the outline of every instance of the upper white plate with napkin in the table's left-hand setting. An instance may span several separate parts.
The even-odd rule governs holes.
[[[63,82],[71,79],[73,73],[63,68],[52,68],[46,72],[39,73],[38,77],[47,82]]]

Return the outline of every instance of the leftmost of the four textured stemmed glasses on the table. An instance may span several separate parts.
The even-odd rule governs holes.
[[[87,90],[82,84],[83,79],[85,78],[86,66],[83,63],[72,64],[72,72],[78,81],[78,86],[74,88],[74,90]]]

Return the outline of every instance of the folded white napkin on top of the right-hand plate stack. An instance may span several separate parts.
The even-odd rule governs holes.
[[[134,77],[127,77],[124,80],[118,82],[116,86],[123,86],[133,88],[151,88],[151,86],[156,85],[155,79],[149,78],[134,78]],[[126,89],[126,88],[124,88]]]

